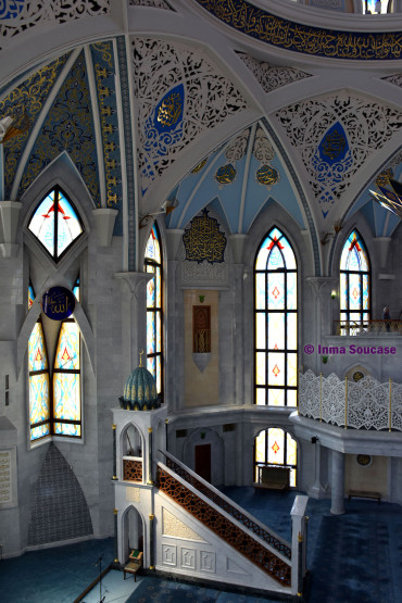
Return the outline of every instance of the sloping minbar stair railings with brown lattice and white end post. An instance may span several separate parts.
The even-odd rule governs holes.
[[[292,543],[289,543],[172,454],[162,454],[166,464],[158,463],[160,492],[269,576],[267,590],[301,594],[305,574],[304,512],[307,497],[296,497],[291,513],[293,537]],[[243,585],[243,581],[240,583]]]

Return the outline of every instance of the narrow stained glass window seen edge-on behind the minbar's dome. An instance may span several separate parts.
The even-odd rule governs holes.
[[[147,368],[163,399],[163,257],[156,224],[147,242],[145,264],[146,272],[154,274],[147,285]]]

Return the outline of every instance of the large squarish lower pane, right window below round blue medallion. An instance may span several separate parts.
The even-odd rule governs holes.
[[[53,404],[54,418],[80,420],[79,374],[54,373]]]

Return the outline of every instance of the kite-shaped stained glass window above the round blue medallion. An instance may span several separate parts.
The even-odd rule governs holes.
[[[84,233],[73,203],[59,187],[54,187],[36,208],[28,229],[55,262]]]

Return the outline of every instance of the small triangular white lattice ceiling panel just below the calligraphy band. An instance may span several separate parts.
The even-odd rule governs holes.
[[[294,67],[274,67],[265,61],[259,61],[244,52],[238,52],[237,54],[252,72],[264,92],[272,92],[272,90],[281,88],[287,84],[311,77],[310,74]]]

